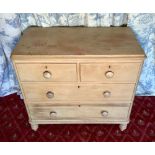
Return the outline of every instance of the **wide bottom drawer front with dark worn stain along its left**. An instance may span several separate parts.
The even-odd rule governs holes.
[[[31,108],[33,120],[62,120],[62,119],[87,119],[98,118],[103,120],[126,119],[128,107],[110,106],[51,106]]]

